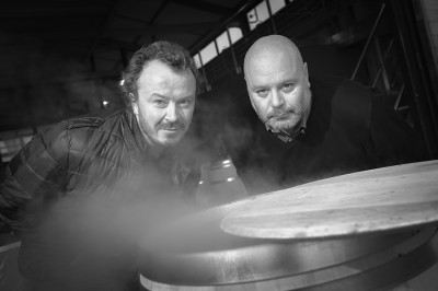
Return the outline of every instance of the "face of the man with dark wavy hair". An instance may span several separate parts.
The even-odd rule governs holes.
[[[141,72],[137,88],[138,101],[132,108],[146,139],[152,147],[175,146],[187,131],[195,108],[192,71],[174,71],[152,60]]]

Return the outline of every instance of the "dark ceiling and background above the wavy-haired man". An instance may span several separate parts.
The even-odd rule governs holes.
[[[116,80],[157,39],[196,53],[250,0],[15,0],[0,10],[0,132],[119,104]]]

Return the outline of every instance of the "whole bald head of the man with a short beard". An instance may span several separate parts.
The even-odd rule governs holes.
[[[296,45],[280,35],[258,39],[246,53],[244,72],[251,104],[266,129],[291,141],[306,128],[312,103],[308,66]]]

